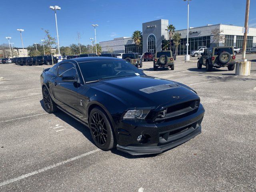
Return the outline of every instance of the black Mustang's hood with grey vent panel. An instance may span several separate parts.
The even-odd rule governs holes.
[[[136,76],[102,80],[91,87],[115,96],[128,108],[172,105],[191,99],[199,99],[189,87],[178,82],[151,76]]]

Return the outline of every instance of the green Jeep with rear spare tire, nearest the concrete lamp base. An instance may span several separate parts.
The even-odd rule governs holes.
[[[228,70],[232,71],[236,64],[236,56],[232,46],[207,48],[198,59],[197,68],[201,69],[202,65],[204,65],[206,66],[206,71],[211,71],[213,67],[228,67]]]

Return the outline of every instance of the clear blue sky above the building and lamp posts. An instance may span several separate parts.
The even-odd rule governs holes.
[[[58,5],[57,12],[60,46],[77,43],[90,44],[94,38],[91,24],[98,24],[97,42],[122,36],[131,36],[134,30],[142,30],[142,23],[168,19],[176,29],[186,28],[187,6],[182,0],[10,0],[1,2],[0,44],[8,43],[11,36],[14,46],[21,47],[40,42],[44,38],[41,28],[56,36],[54,11],[49,6]],[[206,24],[233,24],[244,26],[246,0],[192,0],[190,1],[190,26]],[[256,27],[256,1],[251,0],[249,26]]]

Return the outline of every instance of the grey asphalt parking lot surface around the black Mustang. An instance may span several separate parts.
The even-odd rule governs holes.
[[[147,75],[194,88],[206,111],[200,135],[148,156],[98,150],[84,125],[47,114],[47,66],[0,64],[0,191],[256,191],[256,54],[248,59],[248,77],[198,70],[197,58],[177,57],[174,71],[143,62]]]

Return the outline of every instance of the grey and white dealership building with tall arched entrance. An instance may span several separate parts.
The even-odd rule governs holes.
[[[102,52],[131,53],[131,52],[156,52],[166,50],[169,41],[168,31],[166,27],[169,25],[168,20],[160,19],[142,24],[142,47],[137,47],[132,37],[114,38],[114,40],[100,42]],[[199,48],[208,48],[216,46],[214,42],[212,30],[217,29],[220,35],[224,36],[219,46],[236,46],[242,48],[244,39],[243,27],[224,25],[224,24],[208,24],[201,27],[190,27],[188,34],[188,53],[198,50]],[[181,34],[180,45],[178,46],[178,55],[186,54],[187,29],[176,30]],[[175,50],[172,42],[172,50]],[[247,50],[256,46],[256,28],[249,28],[247,36]]]

